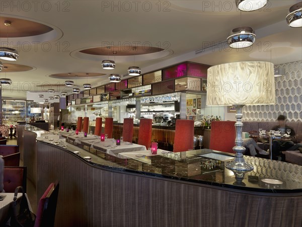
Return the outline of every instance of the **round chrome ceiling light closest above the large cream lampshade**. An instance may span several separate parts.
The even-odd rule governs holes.
[[[256,35],[251,27],[239,27],[232,30],[232,35],[226,38],[231,48],[245,48],[253,45]]]

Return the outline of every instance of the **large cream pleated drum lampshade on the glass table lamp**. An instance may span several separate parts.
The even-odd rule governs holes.
[[[207,105],[274,104],[274,65],[236,62],[210,67],[206,94]]]

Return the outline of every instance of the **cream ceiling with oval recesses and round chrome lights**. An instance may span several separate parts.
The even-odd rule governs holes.
[[[31,68],[0,73],[13,81],[3,86],[3,98],[26,99],[27,92],[40,93],[51,88],[48,84],[63,84],[66,79],[77,80],[79,87],[87,81],[99,86],[108,83],[111,73],[126,74],[134,61],[143,74],[183,61],[217,65],[260,60],[276,65],[302,60],[302,28],[290,28],[285,21],[288,9],[299,1],[271,0],[254,12],[240,12],[235,1],[17,2],[13,6],[13,1],[7,1],[1,9],[0,41],[6,46],[7,31],[12,32],[9,44],[19,51],[19,59],[2,62]],[[11,18],[11,27],[3,24],[5,18]],[[252,27],[256,42],[251,48],[230,49],[224,41],[240,26]],[[111,54],[107,46],[123,53]],[[133,54],[131,46],[139,52]],[[101,62],[107,59],[115,60],[114,70],[102,69]],[[84,76],[64,77],[68,73]],[[86,73],[94,76],[87,78]],[[57,91],[62,89],[71,91],[56,86]]]

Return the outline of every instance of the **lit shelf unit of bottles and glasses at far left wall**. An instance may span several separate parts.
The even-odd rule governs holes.
[[[3,100],[2,124],[6,126],[16,125],[17,122],[25,121],[26,101],[23,100]]]

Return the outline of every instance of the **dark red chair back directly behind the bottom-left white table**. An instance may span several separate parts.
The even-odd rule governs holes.
[[[5,192],[14,193],[18,186],[26,192],[26,166],[5,166],[3,179]]]

